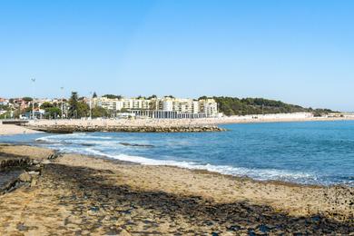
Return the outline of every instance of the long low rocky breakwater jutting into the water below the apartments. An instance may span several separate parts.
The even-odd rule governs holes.
[[[201,133],[226,131],[216,125],[198,126],[99,126],[99,125],[27,125],[28,128],[46,133],[74,132],[132,132],[132,133]]]

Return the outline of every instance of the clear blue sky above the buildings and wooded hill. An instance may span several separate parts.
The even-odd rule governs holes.
[[[354,111],[354,1],[0,2],[0,97],[266,97]]]

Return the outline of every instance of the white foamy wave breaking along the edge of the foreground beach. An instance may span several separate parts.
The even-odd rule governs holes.
[[[50,135],[38,138],[36,139],[36,141],[41,142],[41,145],[43,144],[44,146],[46,145],[49,148],[57,149],[60,152],[76,152],[88,155],[99,155],[106,158],[112,158],[124,162],[136,162],[143,165],[167,165],[192,170],[219,172],[221,174],[228,174],[233,176],[246,176],[260,181],[273,180],[324,185],[330,185],[334,183],[342,183],[346,185],[354,184],[353,180],[338,180],[338,178],[336,178],[338,176],[325,176],[323,174],[317,174],[316,172],[309,173],[279,169],[262,169],[238,167],[234,165],[231,166],[201,162],[176,161],[177,158],[174,158],[174,160],[158,160],[153,158],[146,158],[140,155],[117,153],[120,152],[119,150],[121,150],[122,148],[132,148],[130,146],[131,143],[129,143],[128,146],[124,145],[127,143],[126,138],[124,140],[120,140],[117,137],[97,136],[91,133]],[[134,143],[139,142],[134,140]],[[139,143],[136,145],[143,144]]]

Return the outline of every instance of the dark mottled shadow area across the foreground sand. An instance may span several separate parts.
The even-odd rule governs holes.
[[[53,188],[69,188],[71,196],[57,196],[72,213],[82,219],[84,227],[93,231],[103,227],[109,234],[116,221],[132,233],[159,233],[161,224],[167,232],[218,235],[229,231],[249,235],[269,233],[327,234],[354,231],[352,221],[333,221],[320,215],[291,217],[270,206],[248,202],[216,204],[197,196],[179,196],[166,192],[142,192],[120,185],[117,173],[82,167],[49,164],[44,180]],[[50,187],[51,188],[51,187]],[[87,218],[85,212],[94,217]],[[107,220],[108,219],[108,220]],[[166,229],[165,229],[166,230]],[[114,232],[114,231],[113,231]]]

